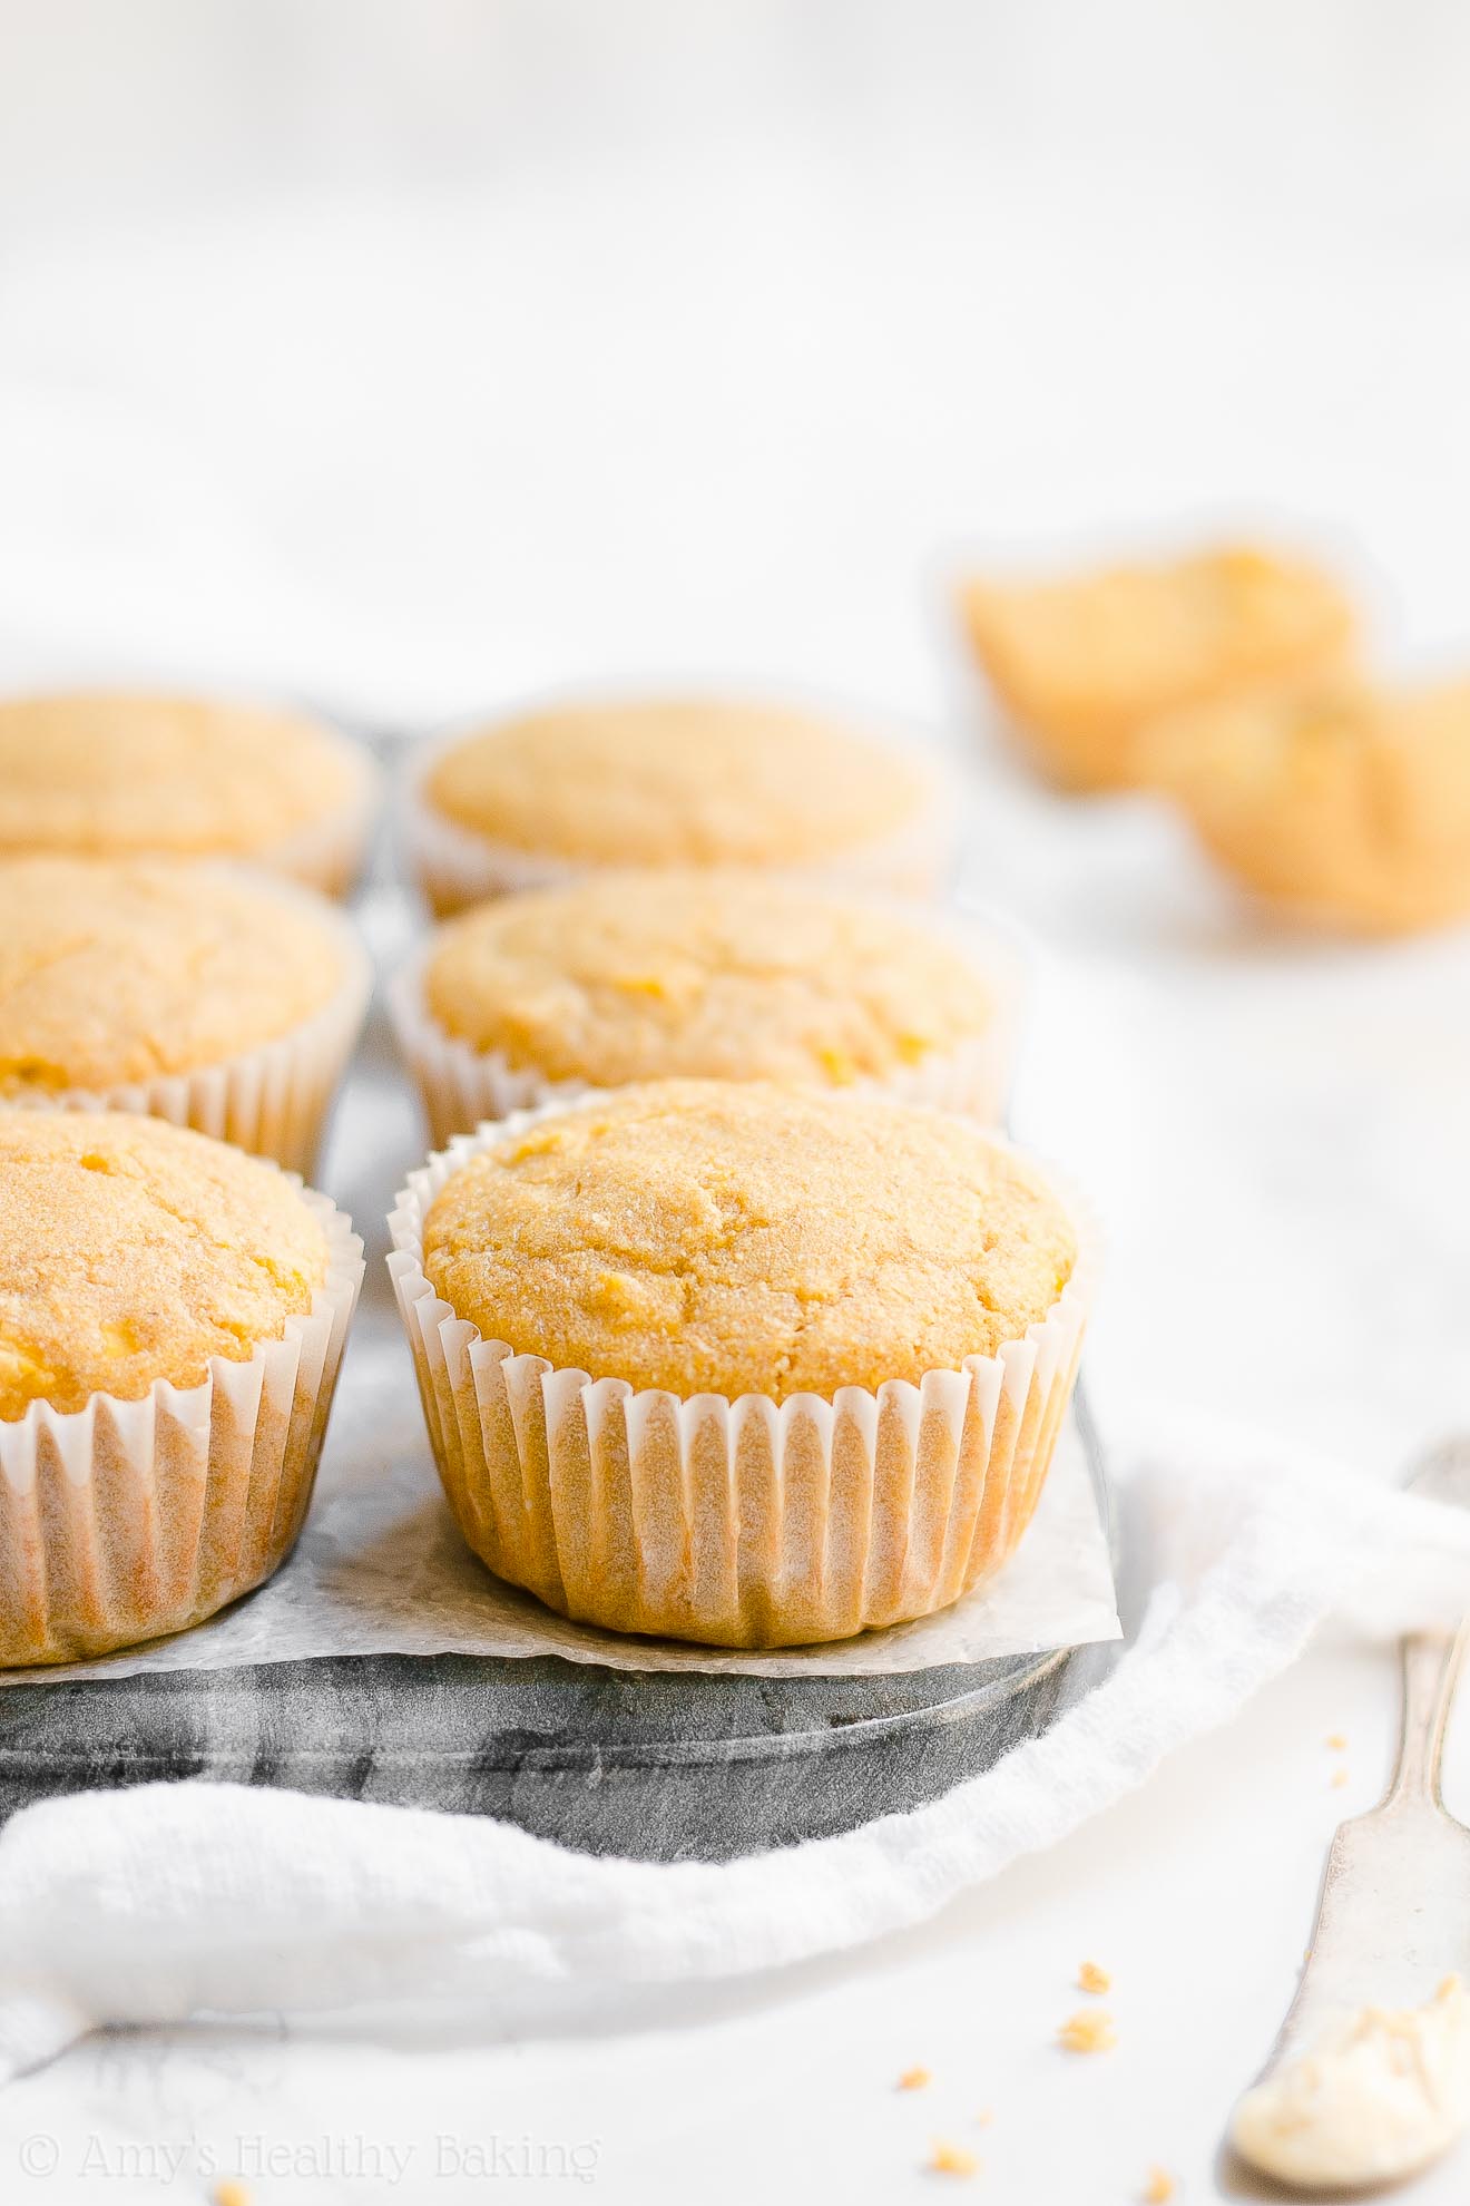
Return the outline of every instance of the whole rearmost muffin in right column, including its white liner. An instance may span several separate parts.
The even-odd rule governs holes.
[[[926,893],[954,856],[937,768],[741,697],[555,704],[428,754],[410,852],[443,918],[608,865],[745,865]]]

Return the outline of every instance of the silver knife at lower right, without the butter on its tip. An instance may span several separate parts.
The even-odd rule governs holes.
[[[1433,1449],[1408,1491],[1470,1509],[1470,1438]],[[1457,1632],[1413,1632],[1402,1641],[1397,1767],[1382,1802],[1338,1827],[1307,1966],[1256,2091],[1309,2058],[1344,2014],[1415,2010],[1435,1999],[1446,1977],[1470,1983],[1470,1829],[1448,1813],[1439,1791],[1468,1635],[1470,1619]],[[1461,2120],[1466,2116],[1470,2105]],[[1399,2140],[1397,2164],[1384,2164],[1395,2146],[1380,2138],[1377,2157],[1362,2144],[1355,2171],[1340,2157],[1322,2180],[1344,2188],[1406,2175],[1441,2151],[1459,2124],[1448,2118],[1441,2127],[1446,2133],[1428,2151],[1415,2153],[1410,2140]],[[1234,2142],[1239,2149],[1245,2140],[1236,2135]],[[1351,2162],[1353,2151],[1353,2140],[1340,2133],[1338,2153]]]

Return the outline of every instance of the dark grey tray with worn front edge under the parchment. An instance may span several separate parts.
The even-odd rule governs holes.
[[[1095,1434],[1078,1425],[1106,1507]],[[917,1807],[1042,1732],[1113,1659],[694,1677],[370,1654],[0,1688],[0,1818],[156,1778],[500,1816],[588,1853],[729,1860]]]

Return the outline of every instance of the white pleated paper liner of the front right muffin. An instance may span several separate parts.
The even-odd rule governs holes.
[[[831,1401],[681,1399],[487,1341],[428,1282],[439,1189],[542,1116],[452,1141],[390,1216],[434,1460],[498,1577],[610,1630],[800,1646],[930,1615],[1005,1564],[1051,1465],[1098,1277],[1098,1233],[1071,1193],[1071,1279],[994,1357]]]

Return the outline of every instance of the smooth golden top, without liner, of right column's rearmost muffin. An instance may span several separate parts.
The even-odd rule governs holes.
[[[425,796],[494,843],[573,865],[813,865],[910,827],[932,783],[813,713],[641,697],[467,735]]]

